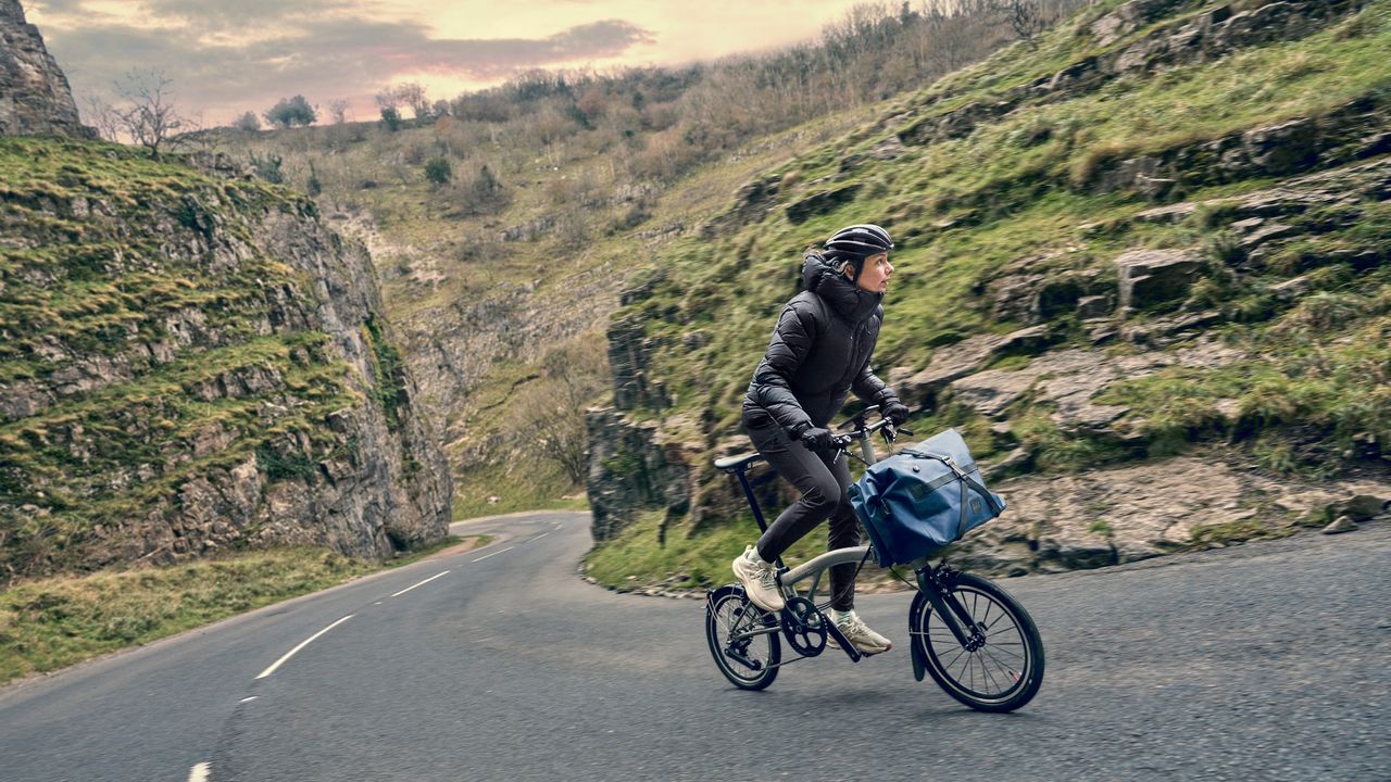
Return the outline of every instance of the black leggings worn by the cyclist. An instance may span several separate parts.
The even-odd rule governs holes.
[[[826,533],[828,551],[860,545],[860,522],[846,495],[851,480],[844,455],[830,462],[830,454],[808,449],[800,441],[787,437],[783,429],[772,422],[750,427],[748,438],[773,470],[801,491],[801,500],[789,505],[758,538],[758,555],[765,562],[782,557],[789,545],[801,540],[826,518],[830,519],[830,529]],[[855,568],[855,565],[836,565],[830,569],[830,607],[836,611],[854,608]]]

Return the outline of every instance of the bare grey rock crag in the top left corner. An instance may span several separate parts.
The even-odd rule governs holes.
[[[46,134],[96,138],[19,0],[0,0],[0,136]]]

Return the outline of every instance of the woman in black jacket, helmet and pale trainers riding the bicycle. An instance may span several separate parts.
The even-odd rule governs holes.
[[[883,320],[881,302],[893,274],[892,249],[889,234],[869,224],[842,228],[822,249],[808,249],[801,269],[807,289],[783,306],[748,384],[743,408],[748,437],[773,470],[801,491],[733,562],[748,600],[765,611],[780,611],[785,604],[773,562],[823,519],[830,519],[828,550],[860,545],[858,520],[846,494],[850,468],[843,454],[832,459],[836,449],[826,429],[846,394],[854,391],[879,405],[894,424],[908,417],[899,395],[869,369]],[[861,653],[887,651],[893,643],[855,615],[855,569],[830,569],[830,618]]]

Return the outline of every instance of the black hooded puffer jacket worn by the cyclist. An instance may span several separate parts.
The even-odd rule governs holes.
[[[872,405],[899,401],[869,369],[883,295],[860,289],[818,255],[807,256],[801,276],[807,289],[783,308],[744,397],[744,426],[771,417],[791,437],[826,426],[851,390]]]

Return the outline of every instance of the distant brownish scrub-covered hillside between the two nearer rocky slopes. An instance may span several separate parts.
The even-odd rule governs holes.
[[[983,6],[960,7],[867,6],[783,51],[529,74],[441,115],[228,131],[217,143],[316,193],[371,246],[406,358],[445,422],[456,516],[573,502],[563,497],[583,493],[584,470],[548,459],[549,441],[583,448],[583,410],[611,385],[604,331],[626,281],[761,173],[1013,40]]]

